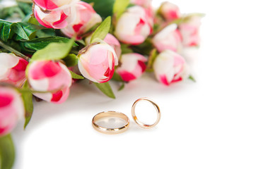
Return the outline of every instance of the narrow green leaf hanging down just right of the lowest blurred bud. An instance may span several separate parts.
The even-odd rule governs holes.
[[[25,84],[23,84],[23,89],[30,90],[28,81],[26,81]],[[33,115],[33,94],[31,92],[23,92],[22,99],[25,107],[25,124],[24,124],[24,129],[25,129],[25,127],[27,127]]]

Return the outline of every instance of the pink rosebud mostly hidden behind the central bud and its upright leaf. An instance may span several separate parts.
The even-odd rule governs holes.
[[[120,42],[117,40],[117,38],[115,38],[111,34],[107,34],[104,41],[107,44],[109,44],[110,46],[112,46],[113,49],[115,49],[115,53],[117,54],[117,58],[120,58],[122,50],[121,50]],[[89,45],[90,42],[91,42],[91,36],[86,37],[86,44]]]

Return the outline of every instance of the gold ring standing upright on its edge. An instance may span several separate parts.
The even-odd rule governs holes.
[[[156,112],[157,112],[157,119],[156,119],[156,122],[153,123],[153,125],[146,125],[144,123],[141,123],[141,121],[138,120],[137,116],[136,116],[136,113],[135,113],[135,107],[136,107],[136,104],[139,103],[139,101],[149,101],[149,103],[153,104],[153,106],[156,108]],[[157,104],[155,104],[153,101],[151,101],[150,99],[144,97],[144,98],[141,98],[141,99],[138,99],[134,102],[134,104],[132,105],[132,118],[134,119],[134,121],[140,126],[140,127],[143,127],[143,128],[151,128],[151,127],[154,127],[156,126],[159,121],[160,121],[160,118],[161,118],[161,111],[158,107]]]

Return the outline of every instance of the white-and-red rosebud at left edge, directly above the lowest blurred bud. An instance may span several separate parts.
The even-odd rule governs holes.
[[[25,68],[28,61],[14,54],[0,53],[0,82],[21,87],[25,82]]]

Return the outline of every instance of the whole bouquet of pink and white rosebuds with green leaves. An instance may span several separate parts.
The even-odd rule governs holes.
[[[151,0],[17,0],[0,8],[0,165],[11,168],[10,132],[28,125],[35,100],[62,104],[86,78],[115,98],[143,73],[169,85],[190,78],[187,51],[199,46],[202,14]],[[17,21],[18,22],[13,22]]]

